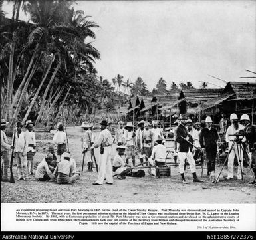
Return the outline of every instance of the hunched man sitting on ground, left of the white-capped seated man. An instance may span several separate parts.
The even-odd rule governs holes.
[[[42,162],[37,166],[35,172],[35,178],[39,181],[49,181],[54,180],[55,176],[49,168],[49,164],[53,161],[53,154],[47,153],[47,156],[42,160]]]

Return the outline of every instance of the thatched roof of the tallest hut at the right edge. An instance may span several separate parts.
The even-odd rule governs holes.
[[[228,82],[223,94],[235,93],[237,98],[255,98],[256,82]]]

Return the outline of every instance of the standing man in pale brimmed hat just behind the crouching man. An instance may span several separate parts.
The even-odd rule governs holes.
[[[124,127],[126,132],[124,134],[124,138],[126,139],[126,164],[129,164],[129,159],[132,158],[132,164],[135,166],[135,153],[134,153],[134,144],[135,144],[135,133],[132,131],[134,126],[132,122],[127,122]]]

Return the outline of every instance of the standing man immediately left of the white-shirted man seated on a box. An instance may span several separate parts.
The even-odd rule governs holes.
[[[149,122],[144,123],[144,130],[142,131],[142,150],[144,152],[146,161],[150,158],[152,154],[152,148],[154,147],[154,134],[149,128]]]

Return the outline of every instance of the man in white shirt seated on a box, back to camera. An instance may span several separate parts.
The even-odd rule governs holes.
[[[166,146],[162,144],[163,140],[164,139],[158,135],[155,141],[157,145],[153,147],[151,157],[148,159],[151,165],[162,166],[166,164]],[[155,160],[155,164],[153,160]]]

